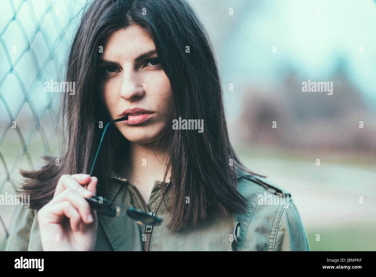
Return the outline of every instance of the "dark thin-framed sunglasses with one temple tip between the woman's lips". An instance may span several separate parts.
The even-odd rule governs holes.
[[[126,115],[121,118],[114,119],[106,124],[105,130],[103,131],[102,138],[100,139],[97,154],[95,155],[94,162],[91,167],[90,176],[94,169],[95,162],[97,161],[98,153],[102,145],[103,138],[105,137],[105,133],[106,133],[108,125],[114,122],[124,121],[127,119],[128,119],[128,116]],[[99,213],[105,214],[106,216],[111,216],[111,217],[120,216],[121,217],[121,216],[127,215],[131,219],[136,220],[138,224],[159,225],[162,222],[161,218],[153,216],[152,213],[148,214],[145,211],[128,207],[120,203],[112,202],[110,200],[103,199],[102,197],[92,196],[92,197],[86,198],[86,201],[88,201],[92,209],[96,210]]]

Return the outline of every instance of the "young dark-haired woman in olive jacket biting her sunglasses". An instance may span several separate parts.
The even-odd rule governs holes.
[[[46,157],[22,171],[31,205],[7,250],[309,250],[291,194],[233,151],[211,46],[184,0],[92,2],[67,81],[76,85],[62,101],[67,147],[59,166]],[[103,126],[125,115],[109,125],[91,177]],[[173,127],[182,119],[197,125]],[[162,223],[97,213],[93,195]],[[261,201],[276,196],[287,201]]]

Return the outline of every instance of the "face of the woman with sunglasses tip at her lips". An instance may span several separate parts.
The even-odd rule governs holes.
[[[111,119],[128,115],[115,124],[134,143],[156,141],[171,122],[170,81],[155,50],[147,32],[131,25],[111,33],[100,54],[103,102]]]

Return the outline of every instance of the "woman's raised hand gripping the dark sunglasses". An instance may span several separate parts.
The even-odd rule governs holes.
[[[44,251],[94,250],[97,213],[85,198],[96,194],[97,181],[87,174],[61,176],[53,199],[37,213]]]

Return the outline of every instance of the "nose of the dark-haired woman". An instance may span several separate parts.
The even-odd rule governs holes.
[[[142,97],[144,92],[138,72],[130,68],[124,69],[120,86],[121,98],[132,101]]]

